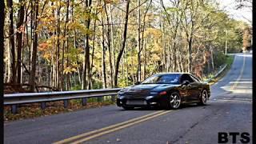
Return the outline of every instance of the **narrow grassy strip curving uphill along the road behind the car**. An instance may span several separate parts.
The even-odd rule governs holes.
[[[212,86],[214,83],[218,82],[220,79],[222,79],[227,72],[230,70],[230,67],[232,66],[232,63],[234,62],[234,55],[227,55],[226,56],[226,69],[222,71],[221,74],[218,75],[217,78],[213,78],[210,82],[209,85]]]

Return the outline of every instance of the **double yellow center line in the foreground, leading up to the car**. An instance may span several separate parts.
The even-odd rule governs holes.
[[[62,144],[62,143],[82,143],[82,142],[86,142],[92,138],[97,138],[99,136],[102,136],[104,134],[109,134],[111,132],[117,131],[117,130],[122,130],[123,128],[129,127],[129,126],[133,126],[135,124],[138,124],[140,122],[145,122],[147,120],[150,120],[152,118],[156,118],[162,114],[167,114],[172,110],[159,110],[157,112],[151,113],[151,114],[146,114],[143,115],[142,117],[138,117],[138,118],[133,118],[130,119],[126,122],[121,122],[112,126],[106,126],[102,129],[98,129],[98,130],[93,130],[84,134],[79,134],[77,136],[71,137],[71,138],[66,138],[62,141],[58,141],[58,142],[54,142],[54,144]]]

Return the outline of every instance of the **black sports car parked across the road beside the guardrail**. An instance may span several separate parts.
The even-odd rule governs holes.
[[[154,74],[144,82],[136,82],[118,92],[117,105],[126,110],[134,107],[161,106],[178,109],[182,103],[205,105],[210,97],[210,86],[192,74]]]

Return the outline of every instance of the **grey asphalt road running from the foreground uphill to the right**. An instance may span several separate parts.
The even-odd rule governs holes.
[[[122,110],[104,106],[6,122],[4,142],[208,144],[218,143],[218,132],[247,132],[253,143],[252,54],[236,54],[230,71],[211,86],[211,92],[206,106],[183,106],[179,110]],[[117,126],[120,123],[123,125]],[[229,139],[228,143],[232,143],[232,138]]]

